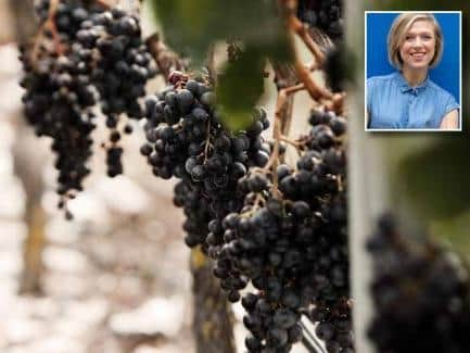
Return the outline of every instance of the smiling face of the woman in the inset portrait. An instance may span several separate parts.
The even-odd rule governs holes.
[[[399,55],[403,68],[428,68],[435,52],[434,26],[424,20],[416,21],[403,38]]]

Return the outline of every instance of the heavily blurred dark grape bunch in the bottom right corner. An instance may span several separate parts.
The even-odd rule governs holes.
[[[369,336],[379,352],[470,352],[468,267],[428,238],[403,236],[383,216],[368,242],[376,314]]]

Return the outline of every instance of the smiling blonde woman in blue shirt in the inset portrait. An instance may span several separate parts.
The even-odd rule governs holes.
[[[403,13],[388,37],[390,63],[397,70],[367,80],[369,129],[457,129],[459,105],[429,77],[442,58],[444,38],[432,14]]]

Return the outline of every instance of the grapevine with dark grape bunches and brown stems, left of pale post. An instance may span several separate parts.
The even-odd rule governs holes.
[[[326,87],[313,78],[329,56],[302,23],[335,40],[342,7],[323,1],[319,10],[301,1],[297,11],[292,3],[280,1],[293,52],[285,65],[295,79],[278,85],[271,140],[263,136],[271,124],[263,108],[253,110],[244,129],[226,126],[213,65],[208,75],[188,72],[158,36],[142,40],[138,15],[104,1],[38,2],[38,36],[22,55],[25,113],[38,135],[53,139],[67,217],[67,200],[90,173],[90,134],[99,118],[110,129],[103,143],[110,177],[123,173],[119,140],[132,130],[123,118],[142,119],[147,141],[140,152],[156,177],[177,179],[174,203],[186,215],[185,241],[213,260],[228,300],[241,300],[249,352],[289,352],[300,341],[309,346],[313,337],[328,352],[351,353],[344,93],[334,77]],[[312,11],[320,11],[321,21],[314,24]],[[310,66],[301,62],[294,36],[310,51]],[[233,50],[229,45],[230,62],[243,55]],[[147,94],[156,67],[168,86]],[[301,90],[316,109],[307,134],[292,139],[285,105]],[[296,163],[287,162],[289,146]],[[316,325],[315,335],[302,317]]]

